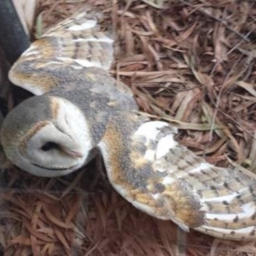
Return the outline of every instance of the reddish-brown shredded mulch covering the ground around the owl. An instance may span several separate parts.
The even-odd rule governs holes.
[[[151,2],[41,0],[34,32],[84,4],[100,10],[116,34],[111,74],[141,111],[179,127],[177,140],[210,163],[255,172],[256,2]],[[3,173],[4,255],[256,255],[253,242],[185,234],[137,211],[106,180],[92,182],[95,172],[92,163],[60,179]]]

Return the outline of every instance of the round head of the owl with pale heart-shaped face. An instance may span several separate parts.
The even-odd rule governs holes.
[[[1,142],[8,159],[34,175],[67,175],[93,149],[90,125],[76,105],[47,95],[31,97],[6,116]]]

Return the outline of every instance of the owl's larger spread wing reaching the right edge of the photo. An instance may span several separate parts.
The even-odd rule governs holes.
[[[205,162],[175,141],[175,129],[165,122],[143,123],[134,115],[123,120],[112,119],[99,143],[108,179],[120,195],[186,231],[255,239],[255,180]]]

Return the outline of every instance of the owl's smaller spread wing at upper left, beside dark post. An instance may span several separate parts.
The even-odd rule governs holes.
[[[100,30],[95,15],[79,12],[33,42],[11,68],[9,79],[41,95],[65,81],[67,69],[75,73],[88,67],[109,70],[112,61],[111,35]]]

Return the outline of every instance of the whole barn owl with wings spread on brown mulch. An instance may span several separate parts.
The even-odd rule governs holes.
[[[35,94],[3,122],[13,164],[42,177],[67,175],[99,150],[109,182],[134,207],[214,237],[256,237],[256,181],[207,163],[180,145],[172,125],[138,114],[132,93],[108,73],[113,39],[78,13],[33,42],[10,70]]]

